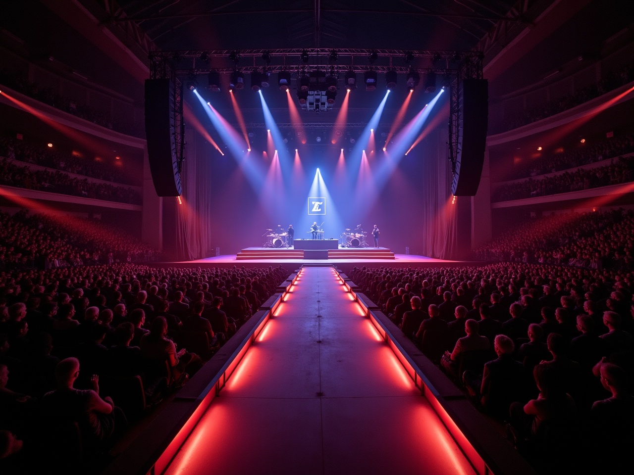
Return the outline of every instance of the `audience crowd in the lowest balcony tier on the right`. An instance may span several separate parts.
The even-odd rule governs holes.
[[[579,168],[552,177],[529,178],[526,181],[498,186],[491,201],[523,200],[536,196],[569,193],[601,186],[629,183],[634,180],[634,156],[619,156],[610,165]]]

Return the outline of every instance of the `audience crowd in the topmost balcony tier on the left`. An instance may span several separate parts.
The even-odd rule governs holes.
[[[14,91],[20,92],[25,96],[29,96],[49,106],[53,106],[56,109],[89,120],[102,127],[107,127],[107,129],[118,130],[124,134],[131,133],[129,127],[113,122],[110,113],[87,106],[74,99],[61,96],[50,87],[41,87],[34,82],[30,82],[20,73],[0,70],[0,84],[6,85]]]

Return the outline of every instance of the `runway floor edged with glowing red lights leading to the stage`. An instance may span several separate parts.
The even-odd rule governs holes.
[[[304,269],[167,473],[475,473],[361,315],[332,268]]]

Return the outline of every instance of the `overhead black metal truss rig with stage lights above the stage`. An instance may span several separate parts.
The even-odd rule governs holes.
[[[176,127],[179,163],[184,160],[183,83],[191,75],[212,71],[240,72],[307,72],[323,70],[334,73],[375,72],[429,73],[444,75],[450,89],[448,124],[452,171],[460,151],[461,83],[464,79],[482,79],[482,51],[437,51],[421,49],[221,49],[151,51],[150,79],[171,79],[174,82],[174,124]],[[295,78],[293,78],[295,79]],[[179,127],[180,126],[180,127]]]

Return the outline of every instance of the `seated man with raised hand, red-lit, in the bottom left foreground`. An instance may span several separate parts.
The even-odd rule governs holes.
[[[99,377],[90,378],[93,389],[76,390],[73,386],[79,377],[79,360],[66,358],[56,369],[57,388],[46,393],[42,406],[48,417],[60,422],[79,422],[82,438],[88,447],[105,448],[115,434],[127,427],[126,416],[110,397],[99,396]]]

